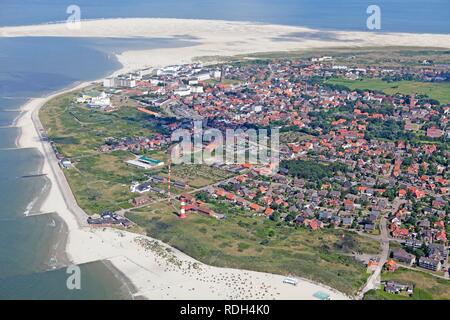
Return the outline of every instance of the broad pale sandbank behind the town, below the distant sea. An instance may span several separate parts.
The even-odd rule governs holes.
[[[384,46],[450,48],[450,35],[324,31],[304,27],[222,20],[127,18],[83,20],[79,30],[64,23],[0,28],[2,37],[115,37],[173,39],[185,48],[126,51],[123,71],[188,63],[195,57],[233,56],[315,48]]]

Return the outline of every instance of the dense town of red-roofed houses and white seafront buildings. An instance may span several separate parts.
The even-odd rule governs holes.
[[[355,61],[315,56],[147,69],[106,79],[81,93],[76,104],[112,115],[126,104],[146,119],[142,125],[151,126],[151,135],[108,136],[97,148],[129,152],[133,158],[125,162],[148,171],[129,185],[134,208],[167,200],[177,203],[182,219],[236,213],[312,232],[353,231],[387,244],[387,256],[366,259],[368,268],[417,268],[448,279],[450,99],[401,92],[400,86],[388,94],[347,85],[443,84],[450,80],[449,66]],[[170,154],[151,154],[167,154],[171,134],[193,133],[199,120],[222,132],[277,128],[277,172],[249,162],[214,163],[208,166],[228,172],[226,179],[199,188],[190,177],[171,179]],[[71,160],[59,157],[69,167]],[[166,166],[162,176],[153,173]],[[413,292],[410,284],[395,282],[385,290]]]

